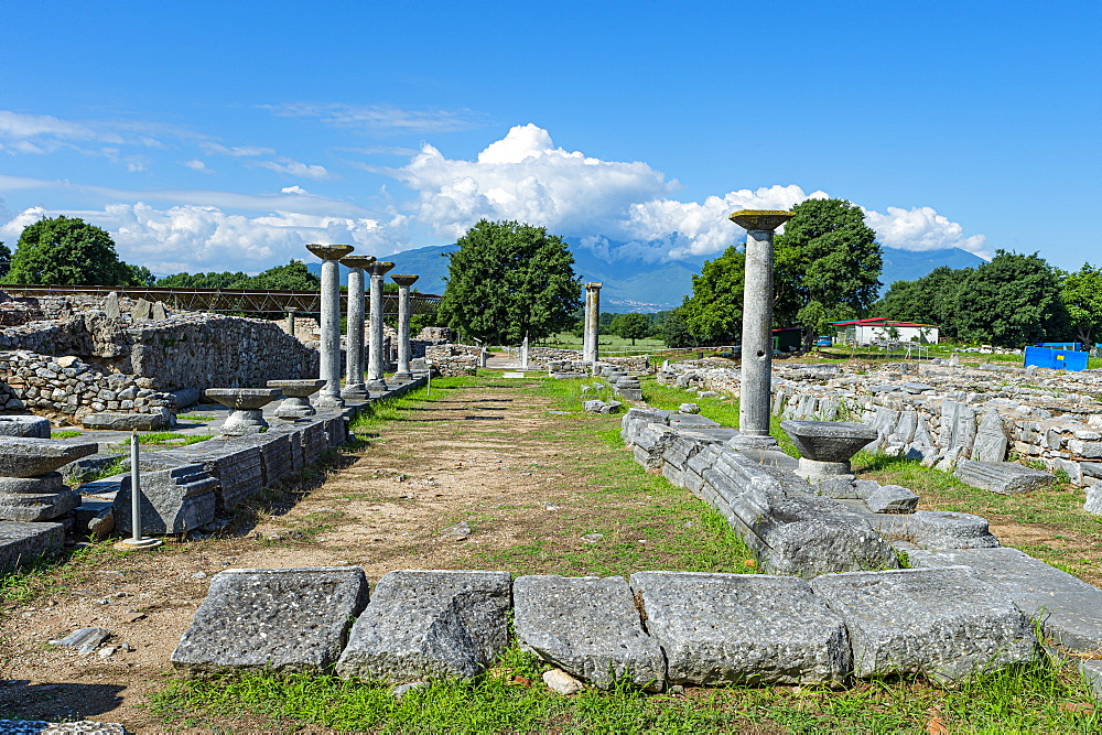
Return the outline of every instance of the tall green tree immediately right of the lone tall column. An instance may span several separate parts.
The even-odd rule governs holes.
[[[861,207],[845,199],[807,199],[792,213],[774,240],[774,322],[802,324],[810,348],[824,315],[869,307],[883,251]]]

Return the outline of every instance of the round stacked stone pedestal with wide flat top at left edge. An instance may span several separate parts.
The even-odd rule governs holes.
[[[56,471],[96,453],[95,442],[0,439],[0,520],[44,521],[80,505]]]

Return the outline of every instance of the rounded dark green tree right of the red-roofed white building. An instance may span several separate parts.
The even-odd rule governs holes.
[[[1005,347],[1059,341],[1070,331],[1059,274],[1036,252],[996,250],[969,270],[953,312],[958,336]]]

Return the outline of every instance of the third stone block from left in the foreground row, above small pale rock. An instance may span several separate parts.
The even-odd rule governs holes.
[[[512,599],[520,645],[544,661],[601,688],[628,679],[661,690],[662,650],[644,633],[623,577],[522,576]]]

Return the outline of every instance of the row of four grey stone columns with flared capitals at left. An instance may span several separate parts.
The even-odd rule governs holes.
[[[370,391],[387,390],[382,344],[382,277],[395,263],[376,260],[372,256],[350,255],[350,245],[307,245],[306,249],[322,259],[321,375],[325,381],[317,404],[344,408],[344,399],[366,399]],[[341,390],[341,267],[348,273],[348,359],[345,389]],[[367,365],[365,366],[364,326],[365,273],[370,275],[370,324],[368,325]],[[398,284],[398,380],[411,380],[410,370],[410,287],[417,275],[391,275]],[[366,380],[365,380],[366,372]]]

